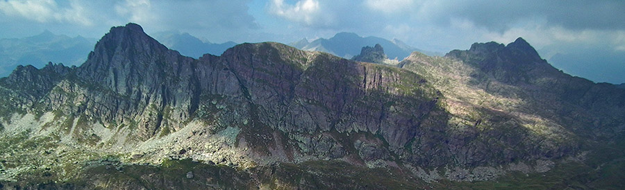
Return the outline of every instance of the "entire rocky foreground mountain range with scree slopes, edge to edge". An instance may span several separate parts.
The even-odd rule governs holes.
[[[127,24],[0,96],[0,188],[625,187],[625,89],[520,37],[388,66],[274,42],[195,59]]]

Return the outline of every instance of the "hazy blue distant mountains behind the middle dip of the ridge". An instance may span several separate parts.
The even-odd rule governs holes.
[[[342,58],[350,59],[360,53],[360,50],[364,46],[375,46],[380,44],[384,47],[388,58],[403,60],[408,57],[412,51],[419,51],[427,55],[442,55],[440,53],[433,53],[429,51],[423,51],[401,42],[400,40],[386,40],[381,37],[360,37],[356,33],[337,33],[330,39],[319,38],[308,42],[306,39],[292,42],[289,45],[294,46],[297,49],[306,51],[323,51],[326,53],[332,53]]]

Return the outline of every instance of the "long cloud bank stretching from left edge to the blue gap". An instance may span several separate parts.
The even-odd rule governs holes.
[[[101,37],[111,26],[135,22],[147,33],[184,31],[211,41],[242,40],[260,26],[249,13],[252,0],[0,0],[0,38],[44,30]]]

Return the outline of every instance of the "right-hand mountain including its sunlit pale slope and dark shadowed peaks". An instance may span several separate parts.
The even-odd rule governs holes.
[[[618,159],[604,159],[603,151],[622,143],[625,90],[563,74],[537,56],[522,38],[507,46],[476,43],[467,51],[451,51],[445,57],[412,53],[400,64],[445,94],[443,105],[450,111],[451,121],[460,125],[501,128],[485,122],[497,119],[493,117],[497,114],[492,114],[497,112],[531,134],[578,141],[576,147],[590,151],[592,162]]]

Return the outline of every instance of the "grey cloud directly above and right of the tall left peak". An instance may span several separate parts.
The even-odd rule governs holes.
[[[183,31],[225,42],[240,40],[243,35],[260,28],[248,13],[249,1],[122,1],[117,3],[116,11],[123,21],[141,24],[148,33]]]

